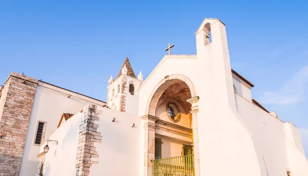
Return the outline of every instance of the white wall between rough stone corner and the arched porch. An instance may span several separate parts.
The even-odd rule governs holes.
[[[99,164],[90,168],[91,176],[142,175],[144,128],[139,116],[107,108],[98,107],[98,110],[103,111],[98,128],[102,143],[94,145],[99,153]]]

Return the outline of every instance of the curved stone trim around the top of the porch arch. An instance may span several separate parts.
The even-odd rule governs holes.
[[[197,96],[196,88],[192,83],[192,81],[187,76],[183,74],[166,75],[164,79],[162,79],[152,90],[149,99],[147,101],[145,114],[155,116],[156,106],[159,97],[168,87],[178,83],[179,80],[187,84],[191,93],[191,97]]]

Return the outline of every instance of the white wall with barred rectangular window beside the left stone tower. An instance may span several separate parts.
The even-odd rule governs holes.
[[[68,94],[72,96],[68,98]],[[38,161],[36,155],[40,150],[40,146],[34,145],[37,121],[47,122],[45,138],[42,141],[47,140],[56,129],[63,113],[74,114],[82,110],[88,103],[100,106],[105,104],[78,93],[73,93],[40,81],[38,82],[34,95],[20,173],[23,173],[25,176],[35,175]]]

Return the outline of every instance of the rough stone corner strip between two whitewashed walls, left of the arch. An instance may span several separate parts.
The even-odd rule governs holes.
[[[102,136],[97,132],[99,127],[95,121],[99,121],[99,114],[96,105],[88,105],[83,109],[84,120],[79,126],[79,145],[76,155],[76,175],[88,176],[92,164],[99,164],[94,158],[99,158],[99,154],[94,147],[94,143],[102,143]]]

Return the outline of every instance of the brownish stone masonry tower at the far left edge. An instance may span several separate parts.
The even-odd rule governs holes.
[[[19,174],[36,87],[37,80],[15,72],[5,83],[0,106],[1,176]]]

